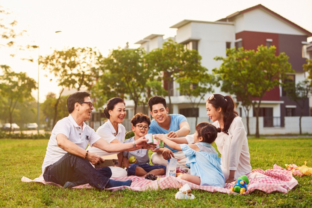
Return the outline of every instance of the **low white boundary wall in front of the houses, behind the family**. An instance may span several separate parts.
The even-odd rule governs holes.
[[[188,123],[191,128],[191,133],[195,132],[195,118],[188,117]],[[197,118],[197,123],[200,122],[211,122],[209,118],[199,117]],[[242,118],[242,121],[245,125],[245,129],[247,131],[246,125],[246,117]],[[103,122],[102,122],[103,124]],[[131,123],[130,119],[125,119],[122,123],[127,131],[131,130]],[[100,126],[99,122],[93,123],[93,128],[97,129]],[[251,134],[256,133],[256,117],[249,118],[249,130]],[[303,116],[301,118],[301,131],[302,133],[309,133],[312,134],[312,116]],[[259,117],[259,132],[260,134],[299,134],[299,117],[292,116],[292,117],[285,117],[285,127],[263,127],[263,117]]]

